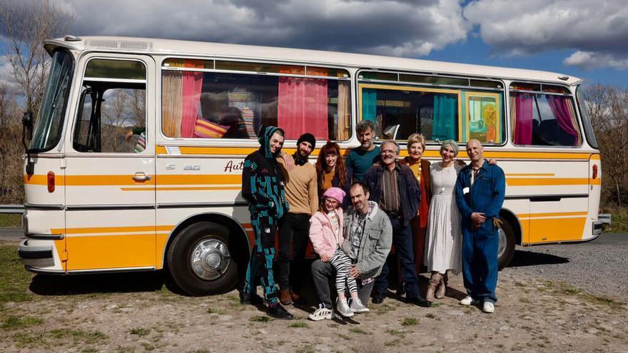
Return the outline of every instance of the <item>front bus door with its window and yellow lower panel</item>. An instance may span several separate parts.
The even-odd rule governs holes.
[[[66,145],[68,271],[156,265],[154,66],[148,56],[81,58]]]

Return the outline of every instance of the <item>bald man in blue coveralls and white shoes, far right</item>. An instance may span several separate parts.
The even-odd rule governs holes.
[[[495,312],[497,249],[500,244],[500,210],[504,203],[504,171],[483,157],[478,140],[467,142],[470,165],[460,170],[456,202],[462,216],[462,278],[467,297],[461,305],[482,302],[482,311]]]

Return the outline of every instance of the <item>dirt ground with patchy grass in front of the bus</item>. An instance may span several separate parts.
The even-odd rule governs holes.
[[[4,352],[628,352],[623,300],[516,268],[500,272],[495,314],[457,304],[459,276],[429,309],[393,295],[353,319],[311,322],[310,307],[290,307],[298,319],[281,321],[237,292],[178,295],[160,273],[31,280],[14,247],[0,245]]]

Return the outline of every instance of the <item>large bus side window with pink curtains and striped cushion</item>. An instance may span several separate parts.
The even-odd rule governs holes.
[[[320,140],[349,138],[350,82],[330,76],[335,71],[309,71],[330,76],[326,79],[281,76],[277,73],[284,71],[273,71],[274,64],[216,62],[217,69],[275,73],[263,76],[191,71],[213,67],[207,61],[166,63],[161,73],[161,128],[168,137],[256,139],[260,126],[270,125],[283,128],[287,139],[296,140],[305,132]],[[177,70],[177,65],[186,71]],[[304,75],[298,69],[295,66],[295,73]]]

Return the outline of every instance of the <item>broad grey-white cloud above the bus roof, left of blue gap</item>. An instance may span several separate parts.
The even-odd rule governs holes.
[[[425,56],[464,41],[458,0],[61,0],[78,36],[148,36]]]

